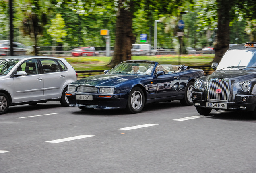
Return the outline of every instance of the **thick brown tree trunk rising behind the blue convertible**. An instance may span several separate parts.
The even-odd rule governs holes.
[[[123,7],[123,2],[129,4],[129,8]],[[109,67],[114,67],[122,61],[131,60],[131,48],[135,42],[135,37],[132,33],[132,1],[119,0],[118,14],[116,21],[116,41],[115,49]]]

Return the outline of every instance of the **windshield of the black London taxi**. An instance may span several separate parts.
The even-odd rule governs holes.
[[[233,70],[256,67],[256,51],[252,50],[229,50],[227,51],[217,70]]]

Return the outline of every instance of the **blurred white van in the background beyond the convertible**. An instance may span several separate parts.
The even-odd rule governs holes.
[[[157,50],[151,48],[150,44],[132,44],[132,55],[155,55]]]

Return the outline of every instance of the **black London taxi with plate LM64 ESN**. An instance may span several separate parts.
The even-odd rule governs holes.
[[[256,42],[229,48],[212,68],[211,75],[194,82],[192,100],[197,112],[243,110],[256,118]]]

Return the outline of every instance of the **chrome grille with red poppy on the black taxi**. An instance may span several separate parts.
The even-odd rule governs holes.
[[[222,78],[213,78],[209,82],[208,100],[228,101],[230,81]]]

